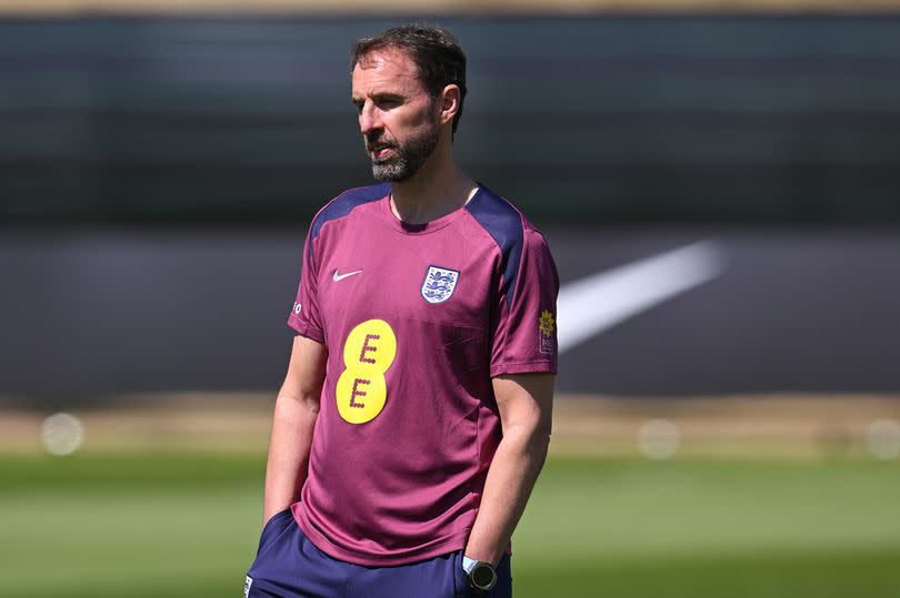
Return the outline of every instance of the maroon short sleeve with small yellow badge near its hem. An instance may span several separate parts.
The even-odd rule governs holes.
[[[497,297],[491,377],[557,372],[559,275],[543,235],[526,227],[517,277]]]

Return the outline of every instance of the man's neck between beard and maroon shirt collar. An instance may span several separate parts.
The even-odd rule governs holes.
[[[426,224],[466,205],[477,187],[439,145],[416,174],[391,183],[391,207],[408,224]]]

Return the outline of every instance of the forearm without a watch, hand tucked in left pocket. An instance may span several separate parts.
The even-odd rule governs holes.
[[[281,394],[276,401],[266,465],[263,523],[300,499],[318,414],[318,396],[313,399]]]

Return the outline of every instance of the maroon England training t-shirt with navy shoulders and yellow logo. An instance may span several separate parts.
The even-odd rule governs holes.
[[[384,566],[464,548],[501,438],[491,378],[556,372],[558,290],[543,235],[484,186],[422,225],[388,184],[319,212],[288,320],[328,347],[292,507],[319,549]]]

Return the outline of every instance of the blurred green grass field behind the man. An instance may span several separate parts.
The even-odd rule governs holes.
[[[263,455],[0,457],[0,596],[240,596]],[[868,597],[900,587],[900,465],[551,458],[516,596]]]

